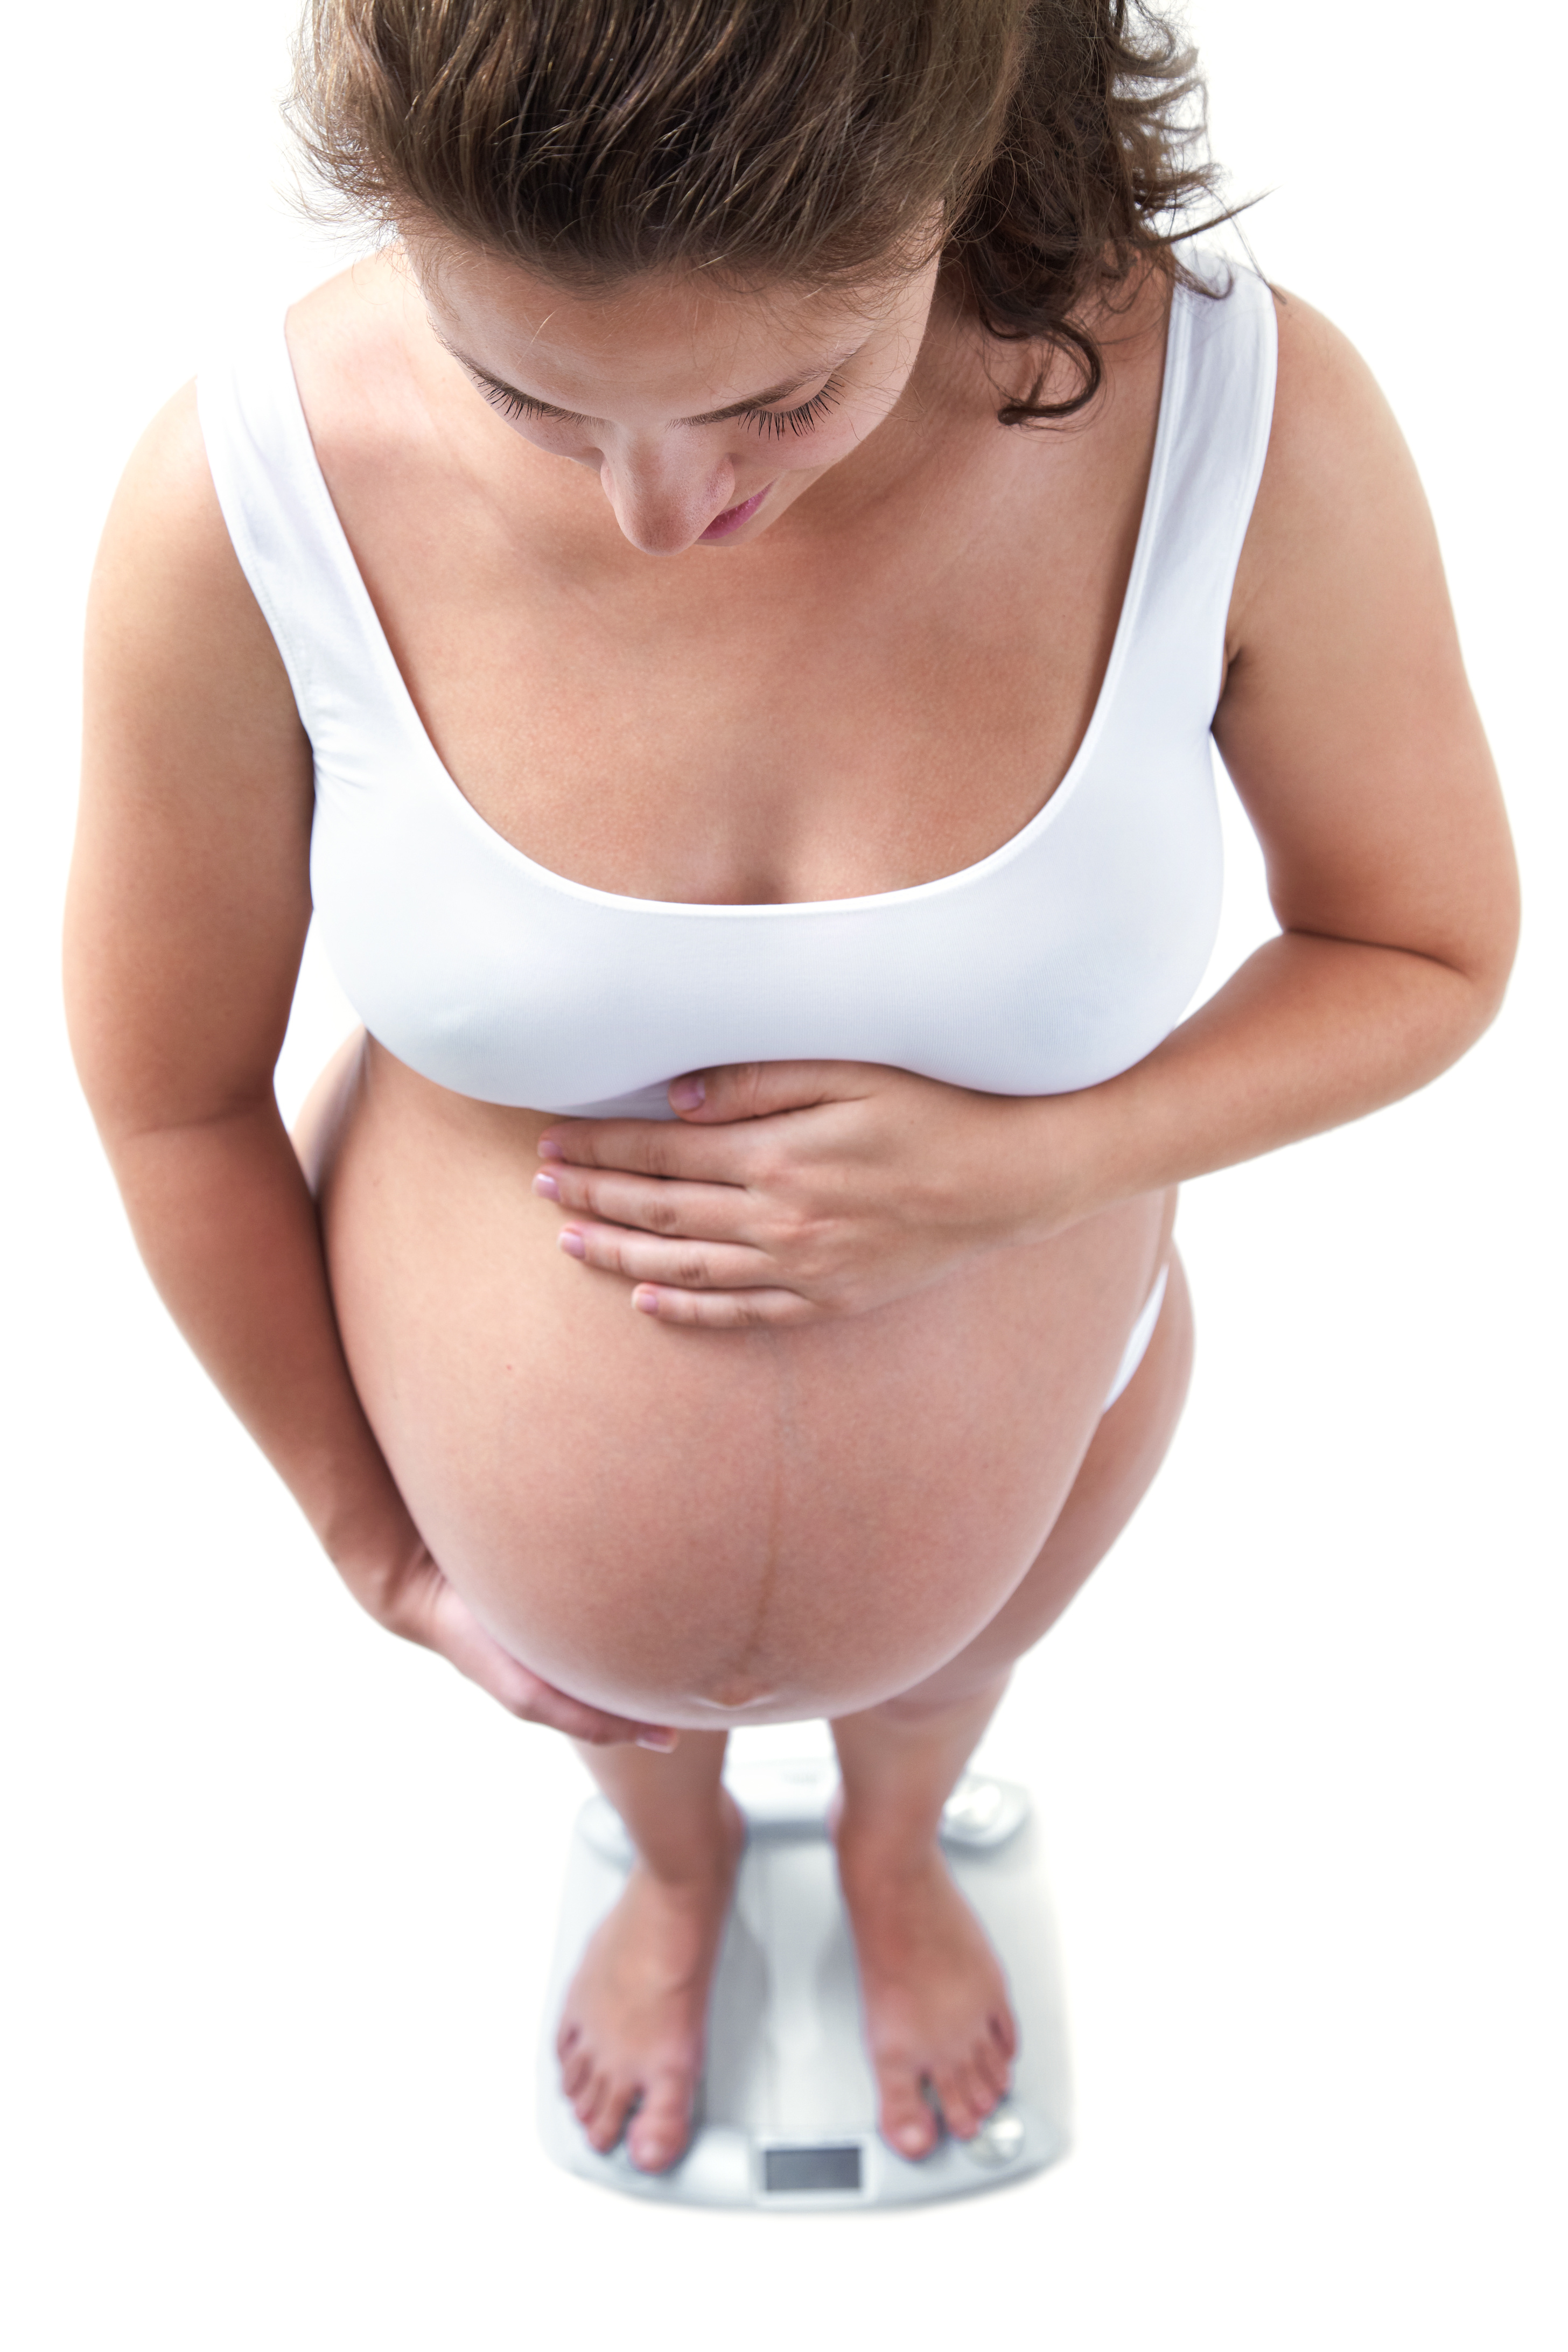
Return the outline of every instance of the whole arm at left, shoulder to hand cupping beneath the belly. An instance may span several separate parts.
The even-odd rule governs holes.
[[[430,1559],[348,1376],[273,1096],[310,920],[310,746],[183,393],[136,449],[94,572],[66,915],[71,1042],[141,1256],[381,1625],[515,1715],[588,1740],[654,1733],[491,1642]]]

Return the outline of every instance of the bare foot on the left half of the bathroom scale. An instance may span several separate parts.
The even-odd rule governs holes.
[[[609,2154],[625,2131],[644,2173],[668,2171],[691,2136],[708,1992],[743,1846],[745,1818],[722,1790],[712,1867],[672,1879],[637,1860],[562,2006],[562,2089],[588,2143]]]

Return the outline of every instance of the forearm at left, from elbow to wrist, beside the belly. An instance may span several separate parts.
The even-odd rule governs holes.
[[[106,1145],[165,1305],[355,1599],[386,1623],[418,1534],[343,1362],[315,1202],[277,1108]]]

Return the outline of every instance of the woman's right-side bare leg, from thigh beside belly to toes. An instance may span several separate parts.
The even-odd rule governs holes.
[[[1110,1406],[1039,1559],[990,1625],[917,1689],[839,1717],[837,1846],[856,1936],[879,2129],[922,2157],[936,2145],[926,2089],[957,2138],[1006,2091],[1016,2027],[1006,1980],[952,1884],[938,1820],[1013,1661],[1063,1613],[1164,1461],[1192,1371],[1192,1298],[1180,1258],[1147,1355]]]

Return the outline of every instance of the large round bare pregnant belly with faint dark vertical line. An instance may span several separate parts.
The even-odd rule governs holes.
[[[1150,1197],[872,1315],[668,1329],[557,1249],[543,1120],[376,1049],[341,1110],[339,1324],[430,1550],[548,1682],[684,1729],[872,1705],[994,1616],[1161,1237]]]

